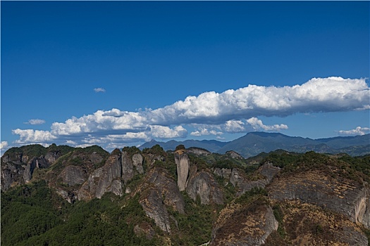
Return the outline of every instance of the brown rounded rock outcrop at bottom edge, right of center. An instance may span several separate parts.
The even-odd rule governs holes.
[[[273,210],[269,205],[261,205],[253,213],[247,211],[247,207],[221,211],[222,219],[214,226],[210,245],[264,245],[266,238],[278,229]]]

